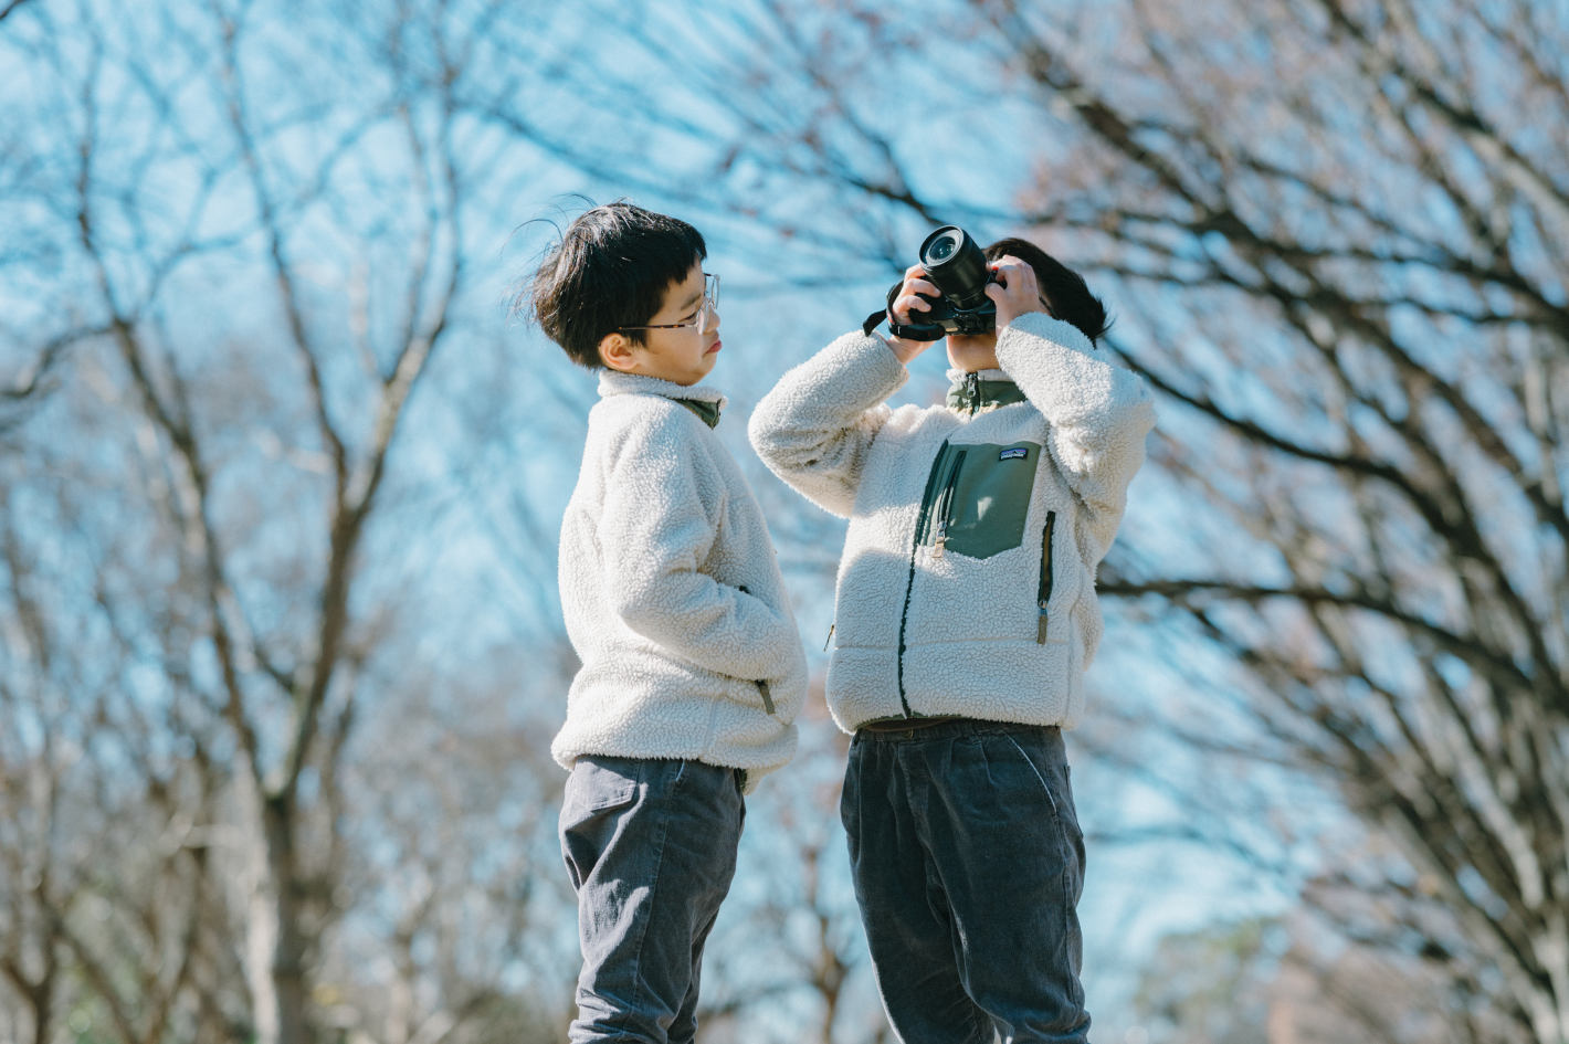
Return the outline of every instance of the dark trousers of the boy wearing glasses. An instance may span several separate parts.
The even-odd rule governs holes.
[[[719,906],[745,820],[737,769],[581,757],[562,801],[562,856],[577,890],[573,1044],[689,1042]]]

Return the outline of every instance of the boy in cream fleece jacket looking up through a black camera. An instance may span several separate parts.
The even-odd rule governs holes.
[[[1101,636],[1095,567],[1155,422],[1095,349],[1078,273],[934,232],[890,292],[750,424],[758,455],[850,520],[827,697],[854,733],[841,815],[890,1022],[905,1044],[1086,1041],[1084,846],[1062,728]],[[891,410],[946,334],[945,405]],[[924,339],[923,339],[924,338]]]

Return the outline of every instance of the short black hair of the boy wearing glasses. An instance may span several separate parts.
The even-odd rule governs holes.
[[[527,312],[574,363],[599,369],[599,341],[653,319],[665,292],[706,256],[701,232],[686,221],[618,199],[566,226],[513,309]],[[624,333],[645,342],[642,330]]]

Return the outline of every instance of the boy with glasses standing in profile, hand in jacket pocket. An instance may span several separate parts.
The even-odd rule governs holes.
[[[700,381],[717,279],[686,221],[581,215],[519,295],[601,371],[562,520],[582,667],[551,754],[584,966],[574,1044],[692,1041],[703,942],[736,870],[744,794],[795,749],[806,663],[763,512]]]

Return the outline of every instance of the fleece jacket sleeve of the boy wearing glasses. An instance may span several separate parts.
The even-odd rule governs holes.
[[[610,604],[626,626],[698,667],[784,677],[800,650],[789,617],[701,571],[726,504],[693,424],[684,410],[665,411],[617,440],[599,518]]]

